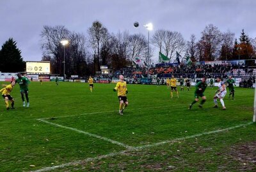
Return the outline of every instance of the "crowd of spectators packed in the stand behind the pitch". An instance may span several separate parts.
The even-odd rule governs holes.
[[[172,75],[183,76],[188,78],[194,77],[222,77],[225,78],[228,75],[253,75],[256,73],[256,69],[250,69],[245,65],[232,65],[232,64],[198,64],[187,66],[180,64],[176,66],[156,66],[148,69],[150,75],[157,75],[157,77],[170,78]],[[123,68],[114,73],[114,77],[118,75],[124,75],[127,78],[138,77],[141,75],[147,75],[147,68]],[[177,77],[176,76],[176,77]]]

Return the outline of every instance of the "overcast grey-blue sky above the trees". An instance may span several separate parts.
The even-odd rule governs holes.
[[[236,38],[242,29],[256,37],[255,0],[0,0],[0,17],[0,45],[12,37],[24,61],[41,61],[44,25],[86,33],[99,20],[115,34],[127,30],[147,35],[141,26],[152,22],[154,31],[178,31],[189,40],[191,34],[199,39],[205,25],[213,24]],[[135,21],[140,27],[133,27]]]

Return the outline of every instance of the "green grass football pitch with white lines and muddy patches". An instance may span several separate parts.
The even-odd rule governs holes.
[[[170,99],[166,86],[127,85],[121,116],[115,85],[94,85],[32,82],[29,108],[16,85],[16,109],[0,104],[0,171],[256,170],[254,89],[227,95],[224,111],[207,88],[204,108],[188,110],[194,88]]]

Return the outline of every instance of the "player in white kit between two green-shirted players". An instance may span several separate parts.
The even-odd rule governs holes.
[[[227,90],[226,90],[226,85],[224,82],[221,81],[221,78],[217,78],[217,82],[218,82],[218,90],[216,90],[216,95],[213,97],[213,101],[215,103],[214,108],[218,108],[218,102],[217,99],[220,99],[220,103],[222,105],[222,109],[225,110],[225,104],[223,101],[223,98],[225,97],[225,95],[227,94]]]

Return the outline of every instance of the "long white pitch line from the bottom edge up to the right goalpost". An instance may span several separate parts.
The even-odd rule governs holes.
[[[163,145],[163,144],[166,144],[166,143],[175,143],[175,141],[186,140],[186,139],[189,139],[189,138],[196,138],[196,137],[205,136],[205,135],[214,134],[214,133],[221,133],[223,131],[228,131],[228,130],[231,130],[231,129],[235,129],[235,128],[238,128],[238,127],[243,127],[243,126],[250,125],[250,124],[253,124],[253,122],[249,122],[247,124],[236,125],[234,127],[228,127],[226,129],[219,129],[219,130],[216,130],[216,131],[209,131],[209,132],[205,132],[205,133],[201,133],[201,134],[195,134],[193,136],[186,136],[186,137],[183,137],[183,138],[176,138],[174,140],[162,141],[162,142],[154,143],[154,144],[151,144],[151,145],[145,145],[145,146],[141,146],[141,147],[134,147],[130,150],[123,150],[121,152],[113,152],[113,153],[110,153],[110,154],[100,155],[100,156],[97,156],[97,157],[89,157],[89,158],[84,159],[84,160],[79,160],[79,161],[74,161],[74,162],[67,162],[67,163],[61,164],[59,166],[51,166],[51,167],[47,167],[47,168],[38,169],[38,170],[35,170],[34,172],[51,171],[51,170],[54,170],[54,169],[57,169],[57,168],[65,168],[67,166],[74,166],[76,164],[84,164],[85,162],[96,161],[96,160],[100,160],[100,159],[104,159],[104,158],[108,158],[108,157],[113,157],[115,155],[122,155],[122,154],[125,155],[127,152],[139,151],[139,150],[142,150],[143,148],[156,147],[156,146]]]

